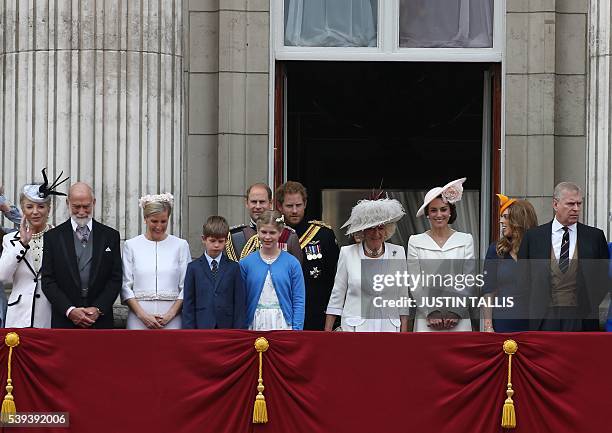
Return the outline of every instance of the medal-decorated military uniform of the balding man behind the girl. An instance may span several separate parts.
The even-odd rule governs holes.
[[[253,251],[257,251],[260,246],[257,226],[253,221],[250,221],[248,225],[241,224],[230,228],[225,244],[225,254],[230,260],[237,262]],[[295,234],[295,230],[291,227],[285,226],[278,240],[278,246],[302,263],[300,242]]]

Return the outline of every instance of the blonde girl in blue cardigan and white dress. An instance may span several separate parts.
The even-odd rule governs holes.
[[[259,249],[240,260],[247,291],[249,329],[301,330],[304,327],[304,276],[300,262],[278,246],[284,219],[277,211],[257,218]]]

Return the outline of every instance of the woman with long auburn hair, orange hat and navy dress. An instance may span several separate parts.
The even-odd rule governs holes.
[[[487,297],[512,298],[512,308],[485,308],[485,332],[519,332],[529,330],[527,292],[520,290],[517,277],[517,254],[525,232],[538,225],[535,209],[526,200],[497,194],[501,237],[489,246],[485,257],[482,293]]]

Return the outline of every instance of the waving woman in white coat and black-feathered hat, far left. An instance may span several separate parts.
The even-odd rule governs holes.
[[[52,228],[47,223],[51,196],[66,194],[55,191],[60,176],[49,185],[45,169],[44,183],[23,187],[19,204],[23,220],[19,231],[9,233],[2,241],[0,281],[13,284],[6,312],[7,328],[50,328],[51,303],[40,287],[43,258],[43,236]]]

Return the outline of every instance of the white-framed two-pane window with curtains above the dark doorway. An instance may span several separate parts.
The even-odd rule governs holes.
[[[506,0],[271,0],[278,60],[499,62]]]

